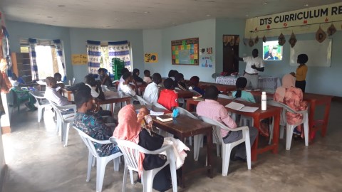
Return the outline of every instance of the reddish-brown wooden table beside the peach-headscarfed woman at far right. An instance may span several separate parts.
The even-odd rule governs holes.
[[[252,91],[252,95],[261,96],[261,91]],[[273,93],[266,92],[267,97],[273,97]],[[329,112],[331,107],[331,99],[333,96],[320,95],[315,93],[304,92],[303,100],[309,103],[309,142],[315,137],[316,132],[321,129],[321,137],[326,136],[326,130],[328,127]],[[315,120],[316,106],[324,105],[323,119]]]

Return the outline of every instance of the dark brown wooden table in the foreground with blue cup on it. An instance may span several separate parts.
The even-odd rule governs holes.
[[[186,137],[192,137],[197,134],[206,134],[207,166],[201,169],[197,169],[195,171],[191,171],[187,174],[195,174],[199,171],[207,170],[209,178],[212,178],[212,124],[208,124],[198,119],[192,119],[190,117],[186,117],[183,115],[174,118],[170,122],[161,122],[157,120],[155,117],[152,117],[152,120],[154,126],[164,130],[165,132],[174,134],[180,139],[180,141],[184,141]],[[182,174],[180,180],[180,185],[182,187],[185,187],[185,164],[183,164],[182,166]]]

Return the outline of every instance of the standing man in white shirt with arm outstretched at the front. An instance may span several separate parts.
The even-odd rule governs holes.
[[[247,79],[247,87],[252,87],[252,89],[257,89],[259,86],[259,71],[263,72],[265,69],[265,63],[262,58],[258,57],[259,50],[254,48],[252,51],[252,57],[247,56],[244,58],[239,58],[237,56],[236,59],[240,61],[244,61],[246,63],[246,69],[244,70],[244,77]]]

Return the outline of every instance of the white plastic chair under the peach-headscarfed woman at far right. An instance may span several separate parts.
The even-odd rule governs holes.
[[[280,119],[280,138],[282,139],[284,137],[284,129],[286,125],[286,150],[291,149],[291,142],[292,142],[292,134],[294,132],[294,128],[299,126],[299,124],[304,124],[304,139],[305,139],[305,146],[309,146],[309,116],[308,116],[308,110],[304,111],[295,111],[291,109],[289,106],[285,105],[281,102],[276,102],[274,100],[268,101],[268,105],[273,105],[276,107],[282,107],[283,110],[281,110],[281,119]],[[299,122],[298,124],[289,124],[286,121],[286,112],[291,112],[295,114],[303,114],[303,120]],[[281,127],[284,127],[284,129],[281,129]],[[273,139],[273,129],[274,129],[274,121],[272,121],[271,124],[271,132],[270,132],[270,140]]]

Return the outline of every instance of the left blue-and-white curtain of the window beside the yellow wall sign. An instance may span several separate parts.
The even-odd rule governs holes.
[[[98,74],[101,61],[101,42],[87,41],[88,73]]]

